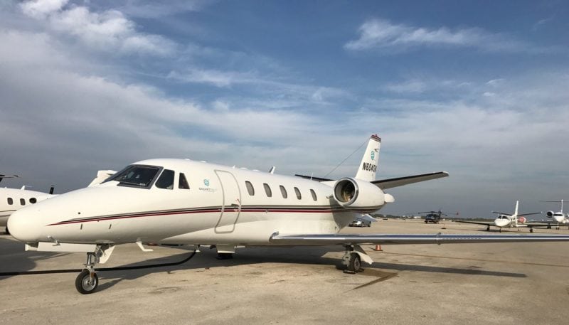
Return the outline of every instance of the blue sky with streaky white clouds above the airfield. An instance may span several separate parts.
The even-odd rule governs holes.
[[[70,191],[179,157],[324,175],[383,138],[384,213],[569,198],[566,1],[3,1],[0,168]],[[354,154],[331,177],[355,174]],[[3,182],[4,185],[4,182]]]

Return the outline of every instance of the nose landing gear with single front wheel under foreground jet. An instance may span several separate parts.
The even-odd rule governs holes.
[[[87,252],[85,269],[75,278],[75,289],[80,294],[92,294],[99,285],[99,277],[95,271],[97,263],[105,263],[109,260],[115,245],[97,245],[95,252]]]

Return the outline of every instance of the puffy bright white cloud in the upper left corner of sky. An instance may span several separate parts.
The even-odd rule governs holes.
[[[29,1],[24,14],[48,23],[53,31],[75,36],[89,48],[107,53],[170,55],[176,44],[158,35],[139,33],[136,24],[116,10],[92,12],[85,6],[64,7],[66,1]]]

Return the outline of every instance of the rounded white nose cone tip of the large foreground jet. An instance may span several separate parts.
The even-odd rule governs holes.
[[[38,242],[41,235],[42,224],[38,223],[34,206],[21,208],[8,218],[10,235],[25,243]]]

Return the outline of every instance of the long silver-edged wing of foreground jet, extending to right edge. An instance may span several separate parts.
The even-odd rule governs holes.
[[[451,235],[431,234],[272,234],[270,243],[278,245],[363,245],[363,244],[458,244],[458,243],[519,243],[569,241],[569,235]]]

